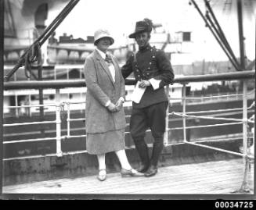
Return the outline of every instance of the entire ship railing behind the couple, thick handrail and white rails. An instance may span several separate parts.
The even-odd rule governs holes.
[[[248,119],[248,110],[254,108],[254,102],[248,107],[247,106],[247,99],[248,95],[251,95],[251,93],[254,91],[251,91],[250,93],[247,93],[247,82],[248,80],[252,79],[255,77],[255,72],[254,71],[247,71],[247,72],[237,72],[237,73],[225,73],[225,74],[218,74],[218,75],[207,75],[207,76],[190,76],[190,77],[182,77],[182,78],[176,78],[175,82],[178,82],[182,84],[182,98],[178,98],[182,100],[182,112],[169,112],[169,106],[167,109],[167,115],[166,115],[166,128],[165,128],[165,133],[164,133],[164,146],[169,146],[171,144],[168,143],[168,137],[169,137],[169,131],[171,130],[183,130],[183,142],[179,144],[190,144],[193,146],[201,147],[201,148],[207,148],[207,149],[212,149],[215,151],[221,151],[225,153],[229,153],[232,155],[238,155],[243,157],[243,182],[239,190],[236,190],[240,193],[243,192],[250,192],[250,187],[248,186],[248,169],[250,169],[250,162],[253,160],[254,161],[254,152],[251,153],[248,151],[248,124],[252,123],[254,126],[254,115],[251,116],[251,118]],[[242,119],[235,119],[235,118],[226,118],[226,117],[216,117],[211,115],[212,112],[227,112],[227,111],[234,111],[234,110],[241,110],[241,109],[218,109],[218,110],[207,110],[207,111],[199,111],[199,112],[186,112],[186,101],[187,100],[198,100],[201,98],[208,98],[208,97],[187,97],[186,96],[186,84],[189,84],[189,82],[204,82],[208,80],[241,80],[243,82],[243,118]],[[130,80],[127,81],[126,84],[135,84],[135,80]],[[5,84],[5,89],[20,89],[20,88],[39,88],[39,87],[44,87],[44,88],[55,88],[56,89],[56,103],[52,104],[52,106],[56,107],[56,120],[54,121],[43,121],[43,122],[31,122],[31,123],[11,123],[11,124],[4,124],[3,126],[25,126],[25,125],[30,125],[30,124],[45,124],[45,123],[56,123],[56,137],[52,138],[38,138],[38,139],[27,139],[27,140],[21,140],[21,141],[4,141],[3,144],[13,144],[13,143],[22,143],[22,142],[31,142],[31,141],[49,141],[52,139],[56,139],[56,154],[49,154],[48,156],[56,155],[58,157],[61,157],[63,155],[68,155],[70,153],[82,153],[86,151],[74,151],[74,152],[66,152],[66,154],[62,151],[61,144],[62,140],[65,140],[67,138],[76,138],[76,137],[86,137],[85,135],[70,135],[70,123],[74,121],[81,121],[81,120],[86,120],[85,118],[79,118],[79,119],[71,119],[70,118],[70,106],[74,105],[74,103],[85,103],[85,101],[78,101],[78,102],[61,102],[60,101],[60,88],[61,87],[83,87],[85,86],[85,81],[84,80],[74,80],[74,81],[58,81],[57,83],[52,83],[52,81],[35,81],[35,83],[32,82],[25,82],[25,83],[16,83],[16,84]],[[171,98],[169,96],[169,86],[166,87],[166,92],[168,94],[169,101],[171,100],[177,100],[177,98]],[[212,96],[214,97],[214,96]],[[219,97],[219,96],[218,96]],[[225,97],[225,96],[223,96]],[[45,106],[45,105],[23,105],[24,108],[28,107],[33,107],[33,106]],[[49,106],[49,105],[48,105]],[[67,135],[62,136],[61,135],[61,113],[67,106]],[[14,109],[19,109],[22,106],[15,106],[12,107]],[[11,108],[11,107],[9,107]],[[200,114],[203,114],[207,112],[207,116],[202,116]],[[197,115],[199,114],[199,115]],[[168,123],[169,123],[169,116],[178,116],[182,118],[182,127],[175,127],[175,128],[169,128]],[[126,116],[129,117],[129,116]],[[211,124],[211,125],[204,125],[204,126],[186,126],[186,119],[211,119],[211,120],[218,120],[218,122],[221,121],[233,121],[233,123],[218,123],[218,124]],[[229,151],[227,149],[222,149],[222,148],[215,148],[212,146],[208,146],[205,144],[199,144],[200,142],[190,142],[187,141],[186,138],[186,130],[188,129],[200,129],[203,127],[211,127],[211,126],[227,126],[227,125],[237,125],[237,124],[242,124],[243,125],[243,152],[236,152],[236,151]],[[150,132],[150,130],[147,130],[147,132]],[[126,134],[129,132],[125,132]],[[254,127],[252,130],[253,133],[253,147],[254,147]],[[41,155],[41,156],[46,156],[46,155]],[[32,157],[23,157],[23,158],[32,158]],[[6,160],[6,158],[4,159]]]

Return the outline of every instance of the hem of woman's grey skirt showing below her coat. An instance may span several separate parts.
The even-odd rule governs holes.
[[[124,149],[124,129],[104,133],[87,133],[86,150],[88,154],[101,155],[110,151]]]

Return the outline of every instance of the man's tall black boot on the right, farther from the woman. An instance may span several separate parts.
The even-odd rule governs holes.
[[[160,157],[160,153],[164,148],[164,142],[162,138],[155,139],[153,142],[152,156],[150,160],[150,167],[146,170],[144,175],[146,177],[154,176],[157,173],[157,163]]]

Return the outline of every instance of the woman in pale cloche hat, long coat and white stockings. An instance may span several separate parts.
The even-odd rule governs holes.
[[[114,38],[107,30],[96,30],[96,50],[85,60],[86,93],[86,148],[97,155],[101,181],[106,180],[106,152],[115,151],[121,162],[121,176],[143,176],[132,169],[124,151],[126,126],[124,109],[124,78],[117,59],[106,51]]]

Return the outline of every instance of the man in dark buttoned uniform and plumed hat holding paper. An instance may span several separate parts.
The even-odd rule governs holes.
[[[157,173],[157,162],[164,146],[165,116],[168,108],[164,86],[174,80],[171,62],[165,53],[150,46],[152,27],[149,19],[136,23],[135,32],[129,37],[135,38],[139,52],[131,55],[121,68],[124,78],[134,73],[137,86],[145,89],[139,101],[136,99],[132,102],[130,121],[132,139],[142,162],[138,171],[145,176]],[[151,158],[144,140],[148,127],[154,139]]]

